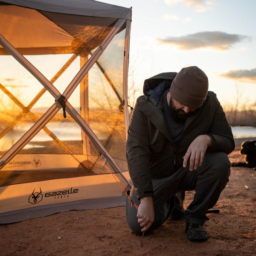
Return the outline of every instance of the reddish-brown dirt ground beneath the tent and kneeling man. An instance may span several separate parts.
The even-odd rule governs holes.
[[[255,140],[255,139],[254,139]],[[241,141],[229,157],[239,155]],[[240,144],[239,144],[240,143]],[[255,256],[256,171],[232,167],[230,181],[205,223],[209,239],[190,242],[185,221],[170,221],[142,237],[131,232],[125,207],[70,211],[0,225],[3,256]],[[186,192],[185,207],[193,192]]]

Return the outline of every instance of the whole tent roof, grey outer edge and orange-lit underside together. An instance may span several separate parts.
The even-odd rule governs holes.
[[[73,53],[81,44],[90,52],[119,18],[131,19],[131,9],[93,0],[0,0],[0,7],[1,35],[23,55]]]

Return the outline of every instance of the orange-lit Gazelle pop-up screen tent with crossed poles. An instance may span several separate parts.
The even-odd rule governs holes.
[[[130,27],[94,0],[0,0],[0,223],[124,205]]]

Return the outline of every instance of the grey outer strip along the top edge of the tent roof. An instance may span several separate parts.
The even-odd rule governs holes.
[[[0,2],[47,12],[131,20],[131,9],[94,0],[1,0]]]

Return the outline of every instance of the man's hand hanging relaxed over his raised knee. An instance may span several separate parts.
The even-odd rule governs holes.
[[[189,160],[189,170],[193,171],[201,166],[204,161],[204,154],[207,148],[212,145],[212,139],[208,135],[199,135],[192,141],[183,157],[183,167],[187,166]]]

